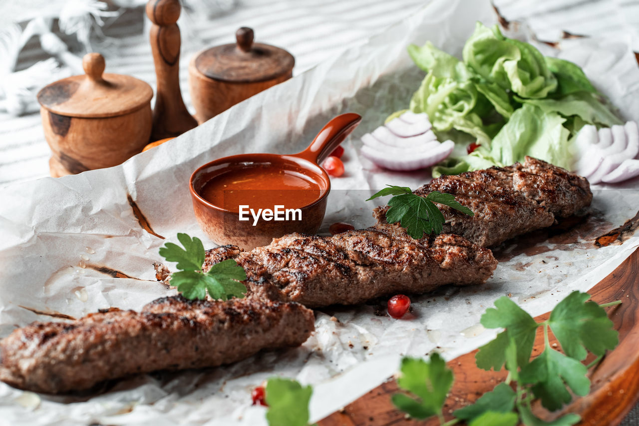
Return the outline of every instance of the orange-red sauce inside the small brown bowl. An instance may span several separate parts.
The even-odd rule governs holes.
[[[318,200],[321,188],[311,177],[293,170],[268,166],[231,168],[204,184],[204,200],[238,212],[240,205],[250,209],[299,209]]]

